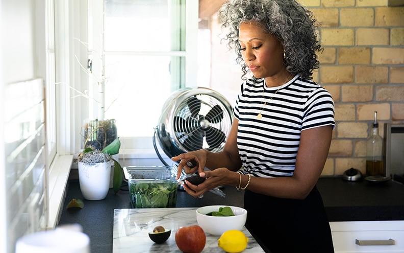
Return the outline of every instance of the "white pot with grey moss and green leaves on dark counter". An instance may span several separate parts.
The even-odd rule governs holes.
[[[87,147],[78,158],[80,189],[88,200],[104,199],[109,190],[111,165],[114,164],[113,189],[117,193],[122,185],[122,167],[112,155],[118,154],[119,137],[102,150]]]

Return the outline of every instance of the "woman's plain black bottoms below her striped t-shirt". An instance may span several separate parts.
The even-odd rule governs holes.
[[[304,200],[245,191],[245,226],[266,252],[334,252],[329,221],[314,187]]]

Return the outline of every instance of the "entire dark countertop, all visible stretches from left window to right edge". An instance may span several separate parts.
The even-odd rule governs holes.
[[[395,181],[372,184],[367,181],[349,182],[341,177],[322,177],[317,188],[323,198],[325,212],[330,221],[404,220],[404,185]],[[204,205],[243,206],[243,191],[224,186],[222,198],[205,193],[194,198],[179,191],[176,207]],[[69,180],[64,206],[72,198],[84,201],[83,209],[63,209],[59,224],[78,223],[90,237],[91,252],[112,252],[114,209],[131,208],[128,191],[114,194],[112,189],[104,200],[85,200],[78,180]]]

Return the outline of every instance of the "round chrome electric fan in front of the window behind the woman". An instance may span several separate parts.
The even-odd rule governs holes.
[[[166,166],[156,138],[168,157],[198,149],[221,151],[232,121],[230,103],[216,91],[202,87],[179,89],[163,105],[153,136],[154,148]]]

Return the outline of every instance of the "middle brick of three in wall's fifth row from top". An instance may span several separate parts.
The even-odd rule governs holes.
[[[356,83],[388,83],[389,68],[382,66],[356,66]]]

